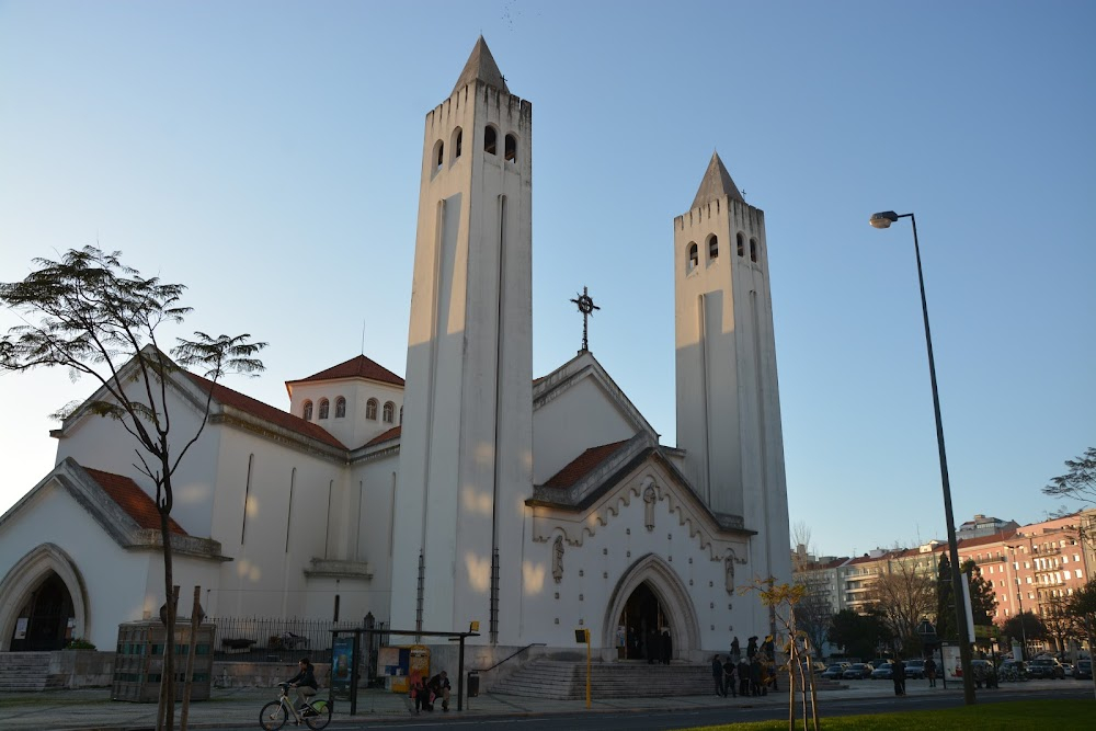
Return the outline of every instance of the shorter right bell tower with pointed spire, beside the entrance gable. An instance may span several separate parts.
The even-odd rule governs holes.
[[[674,219],[677,445],[715,513],[757,532],[749,575],[790,581],[765,214],[719,156]]]

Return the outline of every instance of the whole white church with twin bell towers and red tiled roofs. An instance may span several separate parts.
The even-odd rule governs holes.
[[[584,628],[604,660],[655,628],[689,661],[775,631],[739,591],[791,579],[764,214],[712,156],[672,221],[662,445],[592,352],[534,377],[532,132],[480,38],[426,114],[404,377],[359,355],[288,380],[285,409],[171,379],[178,433],[213,390],[172,511],[207,615],[478,621],[469,644],[499,656]],[[132,439],[80,411],[53,436],[56,467],[0,517],[0,651],[110,649],[164,601]]]

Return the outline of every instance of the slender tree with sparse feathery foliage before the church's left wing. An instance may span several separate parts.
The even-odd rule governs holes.
[[[171,478],[187,450],[205,429],[213,401],[208,388],[198,427],[192,434],[171,431],[172,378],[181,367],[194,368],[212,384],[229,373],[258,374],[262,362],[254,355],[266,344],[248,334],[212,338],[203,332],[193,340],[176,339],[172,361],[160,349],[158,331],[183,321],[191,308],[179,301],[185,287],[146,278],[122,264],[121,252],[94,247],[72,249],[59,262],[35,259],[38,267],[22,282],[0,284],[0,301],[36,323],[12,328],[0,340],[0,368],[30,370],[60,366],[75,376],[90,377],[96,392],[58,418],[77,412],[115,420],[133,437],[134,467],[156,488],[163,547],[163,584],[168,641],[157,728],[174,727],[175,603],[169,519],[173,504]],[[26,321],[26,320],[24,320]]]

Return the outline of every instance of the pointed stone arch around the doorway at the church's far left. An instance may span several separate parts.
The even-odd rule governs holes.
[[[42,544],[16,561],[3,581],[0,581],[0,652],[11,650],[20,610],[34,592],[53,576],[57,576],[65,585],[72,603],[72,617],[76,620],[72,637],[87,637],[88,596],[80,570],[59,546]]]

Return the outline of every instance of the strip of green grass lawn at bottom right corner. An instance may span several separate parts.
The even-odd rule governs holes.
[[[1028,729],[1088,729],[1093,728],[1092,700],[1017,700],[993,703],[946,710],[916,710],[871,716],[844,716],[819,719],[823,731],[925,731],[925,729],[962,729],[963,731],[1027,731]],[[796,719],[796,729],[803,728],[803,719]],[[808,720],[808,729],[812,729]],[[728,723],[698,727],[693,731],[787,731],[788,719]]]

